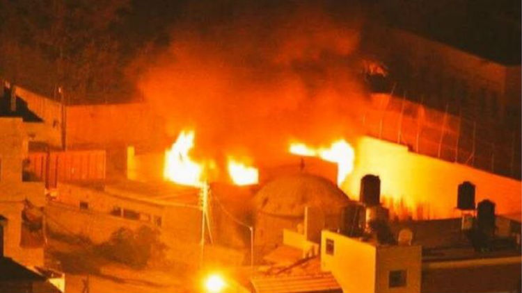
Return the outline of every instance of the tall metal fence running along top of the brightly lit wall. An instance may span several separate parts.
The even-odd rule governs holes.
[[[404,144],[416,153],[521,178],[519,131],[452,115],[448,106],[439,111],[382,95],[365,111],[363,126],[367,135]]]

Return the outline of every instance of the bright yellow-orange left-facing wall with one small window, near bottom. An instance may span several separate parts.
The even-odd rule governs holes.
[[[333,240],[333,256],[326,253],[326,240]],[[343,292],[376,292],[375,246],[331,231],[321,237],[321,269],[331,271]]]

